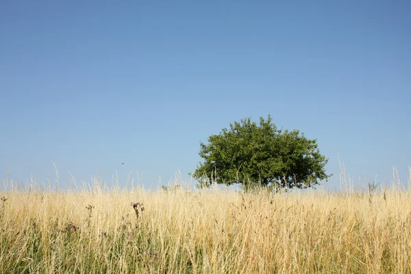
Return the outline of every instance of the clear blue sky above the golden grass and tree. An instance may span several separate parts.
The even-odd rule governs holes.
[[[271,114],[340,186],[411,165],[410,1],[0,1],[0,179],[184,178]],[[125,164],[121,164],[124,162]]]

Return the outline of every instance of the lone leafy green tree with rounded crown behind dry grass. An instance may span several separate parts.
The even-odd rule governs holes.
[[[208,142],[200,142],[199,155],[205,161],[192,173],[200,186],[308,188],[331,176],[325,173],[328,159],[321,155],[316,139],[309,140],[298,130],[277,129],[271,116],[260,117],[260,125],[250,118],[234,122]]]

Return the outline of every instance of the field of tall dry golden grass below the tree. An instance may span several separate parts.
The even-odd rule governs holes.
[[[411,273],[411,191],[5,186],[0,273]]]

